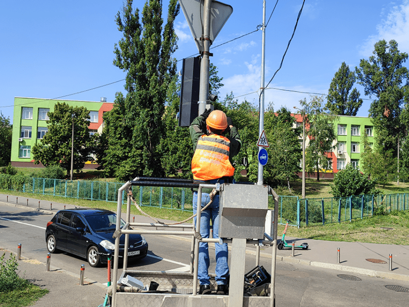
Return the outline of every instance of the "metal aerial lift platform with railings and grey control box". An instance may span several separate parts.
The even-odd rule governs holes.
[[[130,222],[131,201],[134,201],[131,186],[164,186],[197,188],[198,200],[201,200],[203,188],[213,188],[220,194],[220,227],[219,236],[222,239],[201,238],[195,231],[200,229],[200,210],[197,210],[196,225],[164,225],[161,223],[132,223]],[[274,212],[277,221],[278,195],[269,186],[256,184],[198,184],[181,179],[135,178],[125,183],[118,191],[118,216],[121,216],[122,196],[127,192],[126,224],[117,229],[114,234],[115,254],[113,261],[113,286],[111,288],[111,306],[151,306],[151,307],[241,307],[275,306],[275,276],[277,254],[277,223],[272,217],[266,221],[266,215]],[[275,210],[268,210],[268,194],[275,201]],[[136,202],[135,202],[136,204]],[[198,206],[200,208],[200,206]],[[269,212],[268,212],[269,211]],[[265,227],[265,225],[268,225]],[[152,230],[133,229],[133,227],[150,227]],[[157,230],[162,228],[163,230]],[[182,229],[184,228],[184,229]],[[267,228],[267,229],[266,229]],[[176,229],[176,230],[175,230]],[[178,230],[180,229],[180,230]],[[188,229],[187,231],[185,229]],[[134,271],[127,267],[127,246],[129,234],[167,234],[188,236],[192,239],[190,250],[190,272],[169,271]],[[119,237],[125,235],[125,251],[123,272],[118,276]],[[228,295],[199,295],[198,294],[198,254],[199,242],[219,243],[231,242],[230,289]],[[271,282],[269,296],[244,296],[245,251],[246,243],[257,244],[256,266],[259,265],[260,246],[271,245]],[[187,251],[188,253],[189,251]],[[121,278],[133,277],[143,284],[157,283],[156,291],[122,292],[116,283]],[[212,288],[215,288],[214,275],[211,276]],[[131,291],[128,287],[125,291]]]

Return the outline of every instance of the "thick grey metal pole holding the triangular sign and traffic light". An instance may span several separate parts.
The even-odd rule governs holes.
[[[200,60],[200,88],[199,88],[199,114],[205,112],[209,96],[209,68],[210,68],[210,4],[212,0],[205,0],[203,12],[203,50]]]

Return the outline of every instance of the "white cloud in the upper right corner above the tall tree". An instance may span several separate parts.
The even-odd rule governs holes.
[[[383,14],[383,11],[382,11]],[[377,34],[371,35],[360,48],[360,54],[371,56],[377,41],[394,39],[398,42],[400,52],[409,51],[409,1],[403,0],[401,5],[393,6],[387,17],[376,27]]]

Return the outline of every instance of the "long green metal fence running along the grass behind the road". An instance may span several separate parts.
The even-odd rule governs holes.
[[[123,183],[102,181],[70,181],[31,178],[22,186],[22,192],[90,201],[117,202],[118,189]],[[189,188],[132,186],[132,193],[140,206],[191,211],[193,194]],[[407,210],[409,193],[388,195],[359,195],[347,198],[299,199],[298,196],[279,196],[278,224],[291,220],[294,226],[325,225],[352,221],[385,211]],[[125,203],[126,199],[122,200]],[[268,207],[274,208],[272,197]]]

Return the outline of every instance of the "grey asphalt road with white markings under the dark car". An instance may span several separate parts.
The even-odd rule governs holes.
[[[20,243],[22,255],[46,262],[48,251],[44,232],[51,217],[50,214],[0,205],[0,247],[15,252]],[[149,244],[148,256],[131,262],[130,266],[135,270],[189,269],[189,242],[160,235],[146,235],[146,238]],[[211,259],[210,271],[214,272],[214,257]],[[76,274],[79,274],[80,267],[84,264],[87,278],[100,283],[106,282],[106,268],[92,268],[85,259],[71,254],[52,254],[51,264]],[[260,265],[271,272],[269,258],[261,257]],[[254,267],[255,256],[246,255],[245,271],[249,272]],[[405,286],[402,282],[397,283],[394,280],[359,274],[348,274],[349,279],[344,279],[338,277],[340,274],[345,275],[345,272],[278,261],[276,305],[315,307],[406,306],[409,304],[409,293],[395,292],[385,287],[395,284]],[[353,277],[358,277],[360,280],[351,280],[355,279]]]

